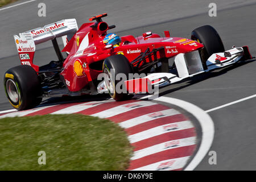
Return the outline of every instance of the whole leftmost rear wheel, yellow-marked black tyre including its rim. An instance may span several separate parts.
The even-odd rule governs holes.
[[[8,100],[17,110],[31,109],[42,101],[39,77],[29,65],[9,69],[3,84]]]

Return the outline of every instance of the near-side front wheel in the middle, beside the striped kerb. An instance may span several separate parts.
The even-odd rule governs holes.
[[[124,81],[129,78],[129,73],[133,73],[131,65],[125,56],[113,55],[107,57],[103,63],[103,72],[105,73],[105,85],[110,96],[115,101],[127,100],[133,96],[127,93],[126,88],[123,88]],[[122,78],[119,79],[119,77]]]

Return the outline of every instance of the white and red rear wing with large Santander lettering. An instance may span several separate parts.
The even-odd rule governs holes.
[[[64,47],[78,30],[76,19],[64,19],[59,22],[47,24],[44,27],[35,28],[18,35],[14,35],[19,59],[22,64],[31,65],[35,71],[39,67],[33,64],[35,45],[52,40],[53,47],[59,60],[64,61],[56,38],[62,38]]]

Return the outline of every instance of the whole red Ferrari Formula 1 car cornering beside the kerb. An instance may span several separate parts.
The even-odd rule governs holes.
[[[79,29],[76,19],[64,19],[14,35],[22,65],[9,69],[4,76],[11,105],[25,110],[39,105],[43,97],[80,96],[106,90],[114,100],[120,101],[142,93],[145,87],[147,92],[150,86],[166,86],[252,59],[247,46],[225,51],[220,36],[211,26],[196,28],[191,39],[171,37],[169,31],[164,31],[165,37],[145,32],[136,38],[121,36],[117,47],[106,45],[106,32],[115,26],[103,22],[104,16],[107,14],[93,16],[90,23],[82,24]],[[63,41],[62,51],[57,38]],[[39,67],[33,63],[35,45],[48,40],[52,41],[59,60]],[[101,73],[105,73],[103,81],[97,79]],[[118,80],[120,73],[127,79]],[[129,80],[131,73],[147,75]],[[122,90],[127,92],[117,92],[120,82],[124,83]]]

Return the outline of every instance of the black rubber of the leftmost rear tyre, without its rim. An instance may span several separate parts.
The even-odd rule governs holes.
[[[14,78],[7,78],[6,73],[13,75]],[[19,65],[18,67],[9,69],[6,73],[3,81],[5,84],[5,92],[11,104],[16,105],[15,109],[30,109],[40,104],[42,98],[37,98],[42,94],[40,88],[40,80],[37,73],[32,67],[28,65]],[[13,101],[11,101],[7,94],[6,81],[8,79],[13,80],[18,85],[20,96],[18,103],[14,103]]]

